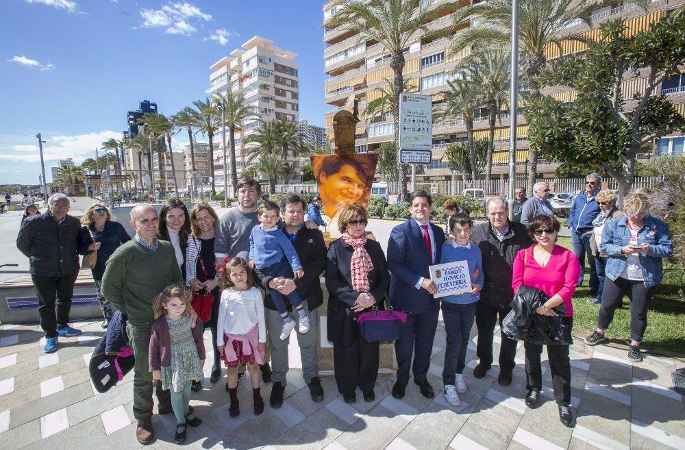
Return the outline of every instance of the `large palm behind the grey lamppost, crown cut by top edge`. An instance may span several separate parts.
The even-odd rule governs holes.
[[[536,77],[547,64],[545,51],[551,47],[562,49],[562,43],[580,40],[579,36],[562,36],[564,27],[580,18],[590,23],[593,10],[603,0],[519,0],[519,53],[523,55],[522,68],[525,81],[530,84],[530,101],[540,97],[540,86]],[[639,3],[639,0],[637,1]],[[512,2],[511,0],[488,0],[457,10],[455,22],[467,18],[481,17],[476,25],[456,34],[451,43],[451,53],[466,47],[490,45],[508,46],[511,42]],[[530,173],[528,192],[532,192],[538,167],[538,151],[533,146],[528,150]]]

